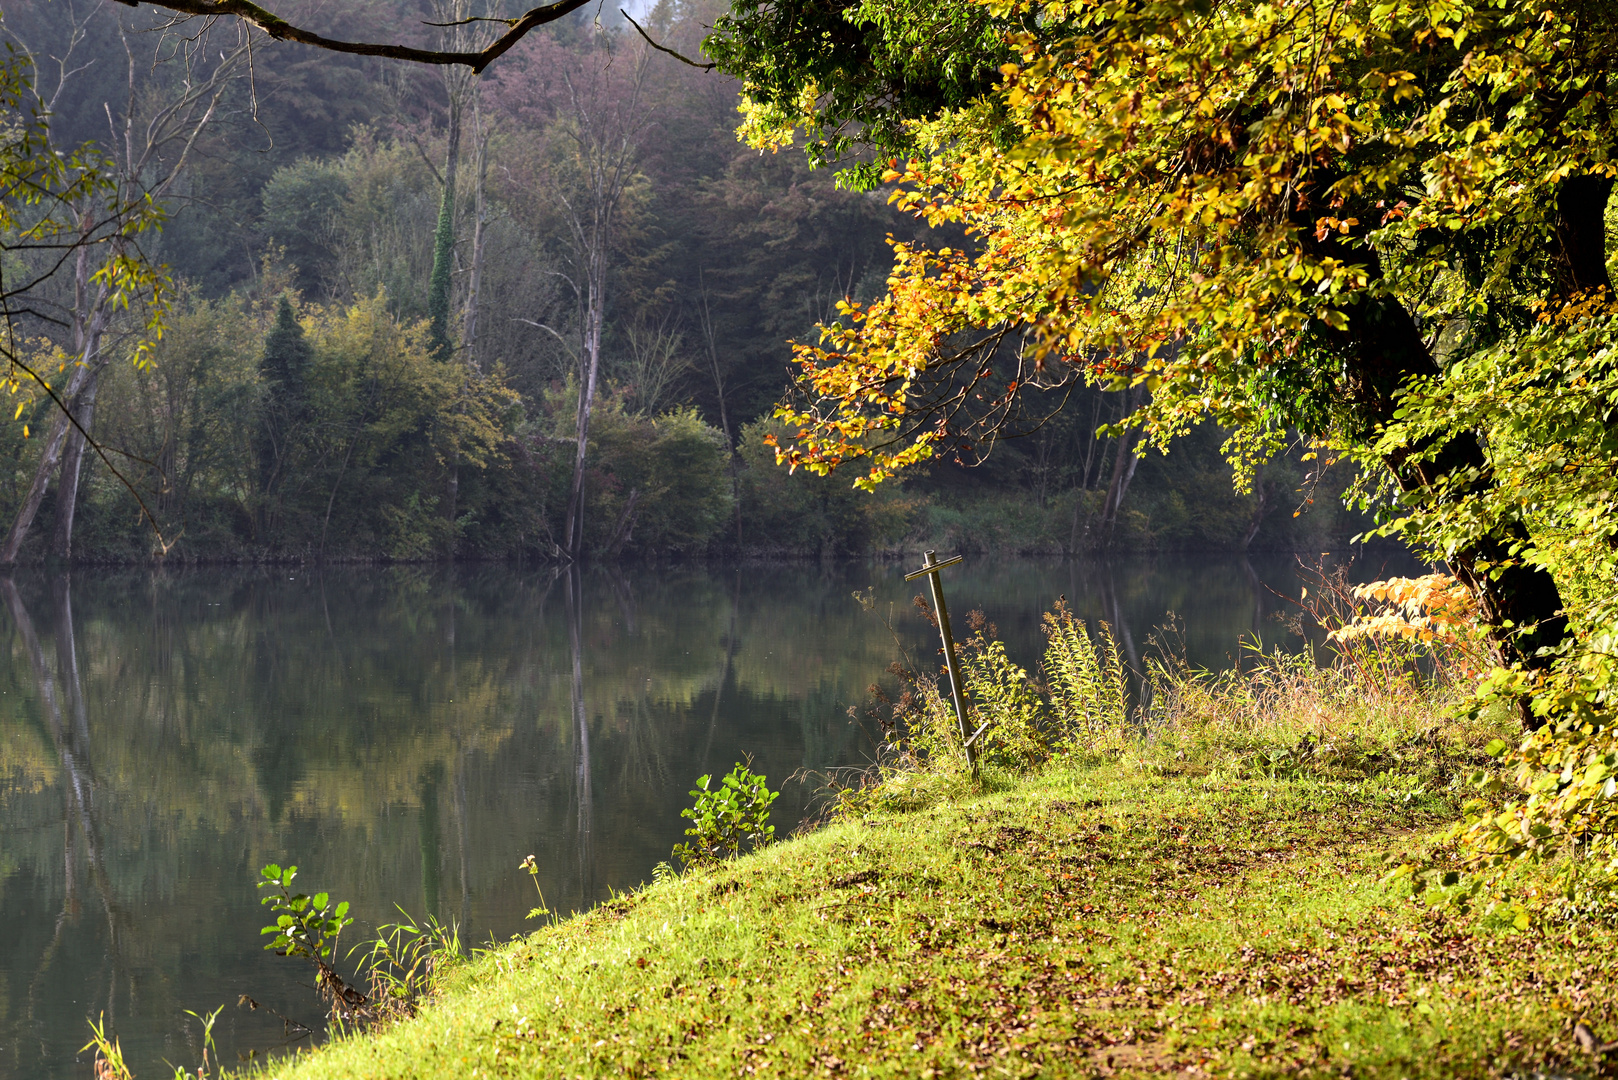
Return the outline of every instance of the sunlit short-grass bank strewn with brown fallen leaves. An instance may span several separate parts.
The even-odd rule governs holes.
[[[414,1020],[267,1074],[1595,1075],[1573,1025],[1618,1035],[1610,931],[1380,884],[1453,821],[1489,732],[1306,714],[945,777],[511,942]]]

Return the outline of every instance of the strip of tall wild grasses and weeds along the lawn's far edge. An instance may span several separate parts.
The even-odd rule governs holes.
[[[1092,756],[1215,779],[1398,774],[1406,795],[1453,792],[1463,771],[1487,761],[1498,717],[1459,708],[1484,646],[1442,604],[1453,593],[1437,576],[1353,586],[1341,568],[1315,568],[1291,619],[1302,649],[1249,649],[1236,669],[1214,672],[1155,635],[1157,656],[1136,672],[1141,704],[1131,704],[1131,672],[1105,623],[1089,627],[1058,604],[1044,615],[1045,654],[1032,674],[971,612],[959,656],[968,725],[985,729],[977,745],[990,784],[1055,756]],[[916,806],[969,787],[942,678],[893,670],[904,690],[880,698],[885,753],[845,785],[843,810]]]

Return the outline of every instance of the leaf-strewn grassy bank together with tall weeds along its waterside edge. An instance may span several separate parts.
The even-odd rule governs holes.
[[[1456,823],[1511,805],[1479,780],[1513,711],[1458,708],[1489,659],[1464,591],[1319,596],[1328,662],[1160,643],[1133,691],[1103,623],[1050,612],[1036,678],[971,614],[979,776],[901,667],[819,827],[443,949],[409,1009],[256,1075],[1600,1075],[1613,926],[1553,887],[1568,855],[1472,892],[1403,870],[1487,873]]]

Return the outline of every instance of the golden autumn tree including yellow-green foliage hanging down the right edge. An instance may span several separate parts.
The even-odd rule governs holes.
[[[869,487],[963,437],[1037,426],[1031,397],[1092,381],[1149,390],[1126,426],[1157,442],[1225,424],[1238,476],[1293,431],[1353,458],[1380,484],[1380,531],[1448,562],[1477,601],[1502,661],[1482,696],[1529,729],[1492,748],[1505,769],[1482,779],[1514,797],[1472,803],[1456,834],[1482,873],[1406,870],[1479,895],[1557,857],[1553,902],[1610,904],[1610,13],[982,6],[1014,24],[1000,87],[913,113],[922,152],[885,173],[900,204],[966,241],[896,244],[887,296],[799,350],[781,457],[853,466]],[[901,0],[859,13],[916,24]],[[754,83],[760,142],[882,107],[869,79],[822,96],[827,58],[794,53],[788,31],[743,49],[767,66],[783,45],[780,78]]]

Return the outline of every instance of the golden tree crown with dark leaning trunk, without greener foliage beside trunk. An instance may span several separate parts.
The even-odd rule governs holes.
[[[1548,665],[1561,597],[1521,557],[1526,510],[1493,497],[1479,434],[1387,434],[1456,350],[1607,288],[1599,21],[1311,0],[990,10],[1040,32],[1013,36],[995,100],[934,120],[930,152],[888,173],[971,240],[900,244],[888,295],[803,350],[786,457],[861,461],[877,483],[961,431],[1014,426],[1023,390],[1084,377],[1149,389],[1131,423],[1157,439],[1228,424],[1238,461],[1302,429],[1374,458],[1505,654]]]

